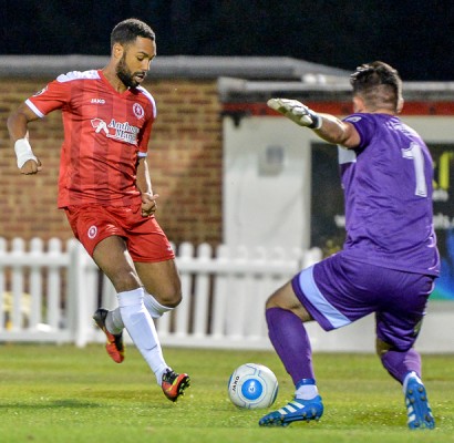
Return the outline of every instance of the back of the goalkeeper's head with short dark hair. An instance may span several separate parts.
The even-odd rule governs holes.
[[[353,94],[361,95],[369,107],[398,111],[402,101],[402,80],[389,64],[380,61],[361,64],[350,75],[350,83]]]

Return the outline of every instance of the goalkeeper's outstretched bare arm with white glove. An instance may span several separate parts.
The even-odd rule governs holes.
[[[351,123],[342,122],[330,114],[317,113],[297,100],[270,99],[268,106],[298,125],[313,130],[328,143],[353,148],[361,142],[358,131]]]

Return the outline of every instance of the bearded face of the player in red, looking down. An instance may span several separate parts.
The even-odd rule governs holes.
[[[156,43],[137,37],[134,43],[124,47],[116,65],[116,75],[127,87],[137,87],[146,76],[149,63],[156,56]]]

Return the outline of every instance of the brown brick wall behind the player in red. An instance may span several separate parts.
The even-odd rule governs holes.
[[[7,119],[52,79],[0,79],[0,237],[68,239],[72,233],[56,209],[63,138],[60,112],[30,125],[30,141],[43,164],[35,176],[18,172]],[[221,105],[216,81],[153,80],[157,103],[148,164],[156,214],[171,241],[217,245],[221,239]]]

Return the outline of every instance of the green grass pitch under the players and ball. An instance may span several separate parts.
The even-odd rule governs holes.
[[[410,431],[401,388],[374,354],[316,353],[322,419],[261,429],[257,423],[267,411],[235,408],[227,381],[239,364],[266,364],[279,380],[274,406],[283,405],[293,388],[274,352],[164,353],[176,371],[192,377],[192,388],[175,404],[132,346],[115,364],[100,344],[0,344],[1,443],[454,442],[454,354],[423,356],[436,429]]]

